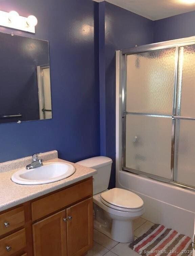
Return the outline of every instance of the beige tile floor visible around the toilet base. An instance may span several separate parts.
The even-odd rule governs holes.
[[[133,222],[135,239],[153,225],[154,223],[143,218],[136,219]],[[118,243],[95,229],[93,240],[93,249],[87,253],[87,256],[140,256],[129,248],[129,243]]]

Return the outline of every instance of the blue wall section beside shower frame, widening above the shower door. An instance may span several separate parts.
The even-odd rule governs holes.
[[[113,161],[110,187],[115,186],[115,51],[135,45],[150,44],[153,42],[153,22],[142,16],[124,10],[108,2],[101,3],[101,12],[105,12],[105,84],[100,84],[100,105],[105,105],[105,129],[101,136],[101,153],[111,157]],[[101,63],[100,63],[101,65]],[[101,78],[100,78],[101,80]],[[105,91],[105,96],[104,96]],[[105,98],[104,98],[105,97]]]

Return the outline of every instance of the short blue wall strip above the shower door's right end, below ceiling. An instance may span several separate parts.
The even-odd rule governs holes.
[[[195,11],[154,21],[154,42],[195,36]]]

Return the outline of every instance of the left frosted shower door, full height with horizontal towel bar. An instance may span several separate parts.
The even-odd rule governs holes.
[[[127,55],[124,168],[171,180],[176,48]]]

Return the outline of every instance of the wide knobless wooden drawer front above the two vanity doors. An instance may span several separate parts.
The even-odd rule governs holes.
[[[45,198],[32,202],[32,221],[58,211],[67,205],[74,204],[83,198],[92,195],[92,178],[62,191],[56,192]]]

